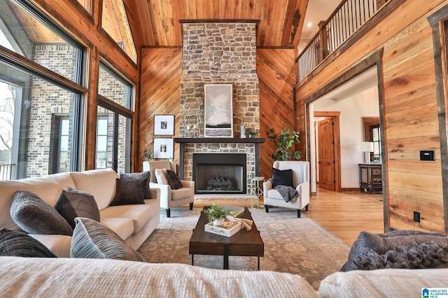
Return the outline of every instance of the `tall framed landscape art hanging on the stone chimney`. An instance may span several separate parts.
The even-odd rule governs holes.
[[[233,137],[232,84],[204,84],[204,137]]]

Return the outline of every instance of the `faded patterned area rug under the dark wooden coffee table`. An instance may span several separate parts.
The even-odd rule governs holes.
[[[302,214],[297,218],[293,209],[249,209],[253,221],[265,242],[265,256],[260,258],[260,270],[299,274],[318,290],[325,278],[344,265],[349,245]],[[191,265],[188,241],[200,216],[200,209],[175,208],[167,218],[160,212],[160,224],[139,253],[146,262],[182,263]],[[223,257],[195,255],[195,266],[223,269]],[[257,270],[256,257],[229,257],[230,269]]]

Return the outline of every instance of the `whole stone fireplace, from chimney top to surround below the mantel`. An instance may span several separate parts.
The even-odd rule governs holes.
[[[260,129],[258,76],[256,73],[256,29],[253,23],[183,23],[183,61],[179,137],[181,176],[195,180],[195,154],[244,154],[246,173],[241,193],[250,191],[246,181],[257,175],[258,143],[241,141],[241,126]],[[233,138],[204,138],[204,84],[232,84]],[[195,140],[188,142],[195,128]],[[263,140],[264,141],[264,140]],[[255,148],[256,147],[256,148]],[[256,162],[255,162],[256,161]],[[196,181],[196,180],[195,180]],[[249,186],[250,188],[250,186]]]

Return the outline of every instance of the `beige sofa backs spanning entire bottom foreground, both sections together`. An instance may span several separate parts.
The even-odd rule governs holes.
[[[337,272],[315,291],[301,276],[273,271],[0,257],[2,297],[422,297],[422,288],[447,288],[447,276],[448,269]]]

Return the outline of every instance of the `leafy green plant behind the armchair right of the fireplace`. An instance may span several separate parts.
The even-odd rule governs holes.
[[[300,159],[302,152],[294,151],[294,153],[292,153],[291,151],[293,144],[300,143],[298,131],[291,131],[289,128],[285,128],[279,135],[277,135],[274,128],[271,128],[271,130],[266,131],[266,133],[269,140],[274,142],[276,146],[276,149],[272,154],[274,161],[289,161],[291,156],[296,160]]]

